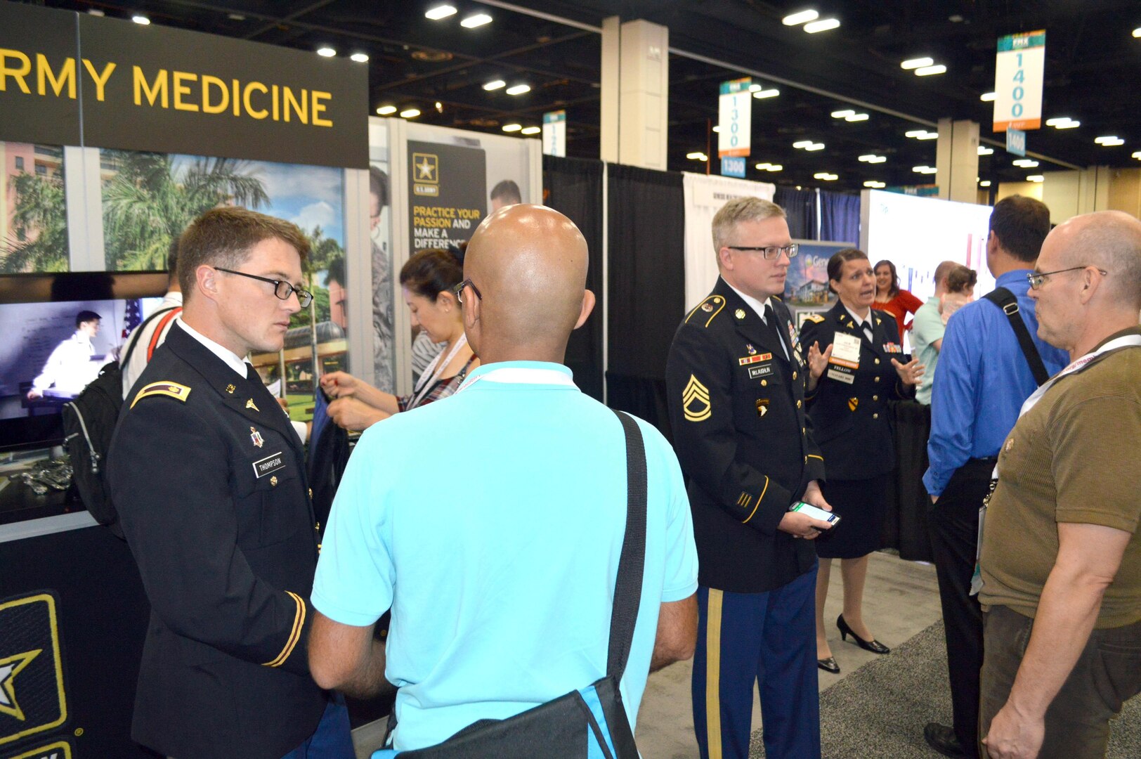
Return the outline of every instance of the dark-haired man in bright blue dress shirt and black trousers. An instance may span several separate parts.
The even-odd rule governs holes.
[[[1046,372],[1066,366],[1065,352],[1038,339],[1034,300],[1026,275],[1050,233],[1050,209],[1014,195],[995,204],[987,236],[987,268],[996,286],[1018,299],[1019,315],[1034,337]],[[923,484],[931,494],[931,544],[939,578],[947,637],[954,728],[929,722],[923,736],[948,757],[974,757],[979,672],[982,668],[982,612],[970,595],[978,549],[979,507],[990,486],[1002,445],[1022,402],[1038,386],[1010,318],[982,299],[968,304],[947,323],[931,394],[930,468]]]

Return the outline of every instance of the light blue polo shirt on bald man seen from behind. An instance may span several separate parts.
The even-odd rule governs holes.
[[[665,438],[638,425],[648,508],[622,679],[631,726],[658,606],[697,589],[681,469]],[[625,469],[621,423],[561,364],[480,366],[455,395],[365,431],[333,502],[313,605],[351,625],[391,606],[394,748],[439,743],[606,673]]]

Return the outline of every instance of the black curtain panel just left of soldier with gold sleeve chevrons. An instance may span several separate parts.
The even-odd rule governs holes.
[[[665,360],[686,309],[681,175],[612,163],[608,205],[607,399],[672,438]]]

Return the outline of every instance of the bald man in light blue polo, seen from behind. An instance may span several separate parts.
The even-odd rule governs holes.
[[[369,428],[333,503],[313,591],[323,687],[399,689],[390,748],[439,743],[606,672],[626,516],[614,413],[563,365],[586,321],[586,243],[561,213],[511,205],[472,236],[456,288],[482,366],[452,397]],[[693,655],[697,554],[673,450],[647,459],[642,592],[621,681],[631,727],[653,669]],[[373,625],[389,607],[386,647]]]

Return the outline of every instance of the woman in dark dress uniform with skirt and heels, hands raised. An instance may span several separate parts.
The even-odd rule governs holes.
[[[809,316],[800,340],[808,350],[808,413],[828,462],[824,495],[842,519],[816,543],[823,559],[816,576],[817,664],[839,672],[824,627],[833,558],[841,559],[844,581],[843,613],[836,619],[841,636],[847,640],[851,635],[873,653],[890,653],[864,623],[861,600],[867,555],[880,548],[884,499],[896,468],[888,401],[912,397],[923,368],[904,356],[895,317],[872,309],[875,274],[866,253],[847,248],[833,255],[828,284],[840,301],[824,316]]]

